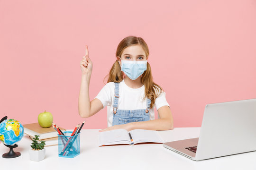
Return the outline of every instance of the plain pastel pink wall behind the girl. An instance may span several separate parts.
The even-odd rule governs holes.
[[[256,98],[255,0],[0,0],[0,117],[81,123],[85,45],[92,100],[128,35],[147,42],[175,127],[200,127],[207,103]],[[104,127],[106,108],[84,126]]]

